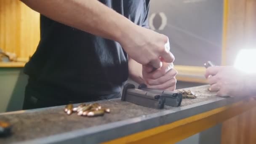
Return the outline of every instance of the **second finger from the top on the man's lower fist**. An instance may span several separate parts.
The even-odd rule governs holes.
[[[176,75],[177,75],[176,69],[171,69],[162,77],[159,77],[157,79],[149,79],[149,80],[147,80],[147,83],[149,85],[160,85],[160,84],[165,83],[168,80],[172,79]]]

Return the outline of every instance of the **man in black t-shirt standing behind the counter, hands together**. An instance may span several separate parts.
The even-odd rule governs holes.
[[[175,89],[168,37],[148,29],[149,0],[21,1],[41,13],[24,109],[117,98],[128,76]]]

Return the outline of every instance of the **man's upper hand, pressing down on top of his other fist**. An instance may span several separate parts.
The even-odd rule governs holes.
[[[131,29],[120,37],[119,42],[132,59],[155,68],[162,67],[161,60],[167,63],[174,61],[167,36],[139,26]]]

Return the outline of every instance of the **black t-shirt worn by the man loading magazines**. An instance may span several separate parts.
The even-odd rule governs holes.
[[[100,1],[135,24],[148,26],[149,0]],[[40,32],[37,50],[24,68],[29,88],[42,96],[67,100],[120,93],[128,78],[128,58],[119,43],[43,15]]]

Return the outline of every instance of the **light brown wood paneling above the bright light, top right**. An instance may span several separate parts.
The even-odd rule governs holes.
[[[256,0],[228,0],[226,65],[233,65],[240,49],[255,43]],[[256,47],[256,45],[254,45]]]

